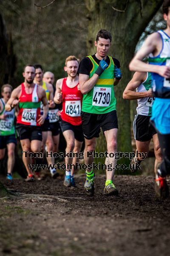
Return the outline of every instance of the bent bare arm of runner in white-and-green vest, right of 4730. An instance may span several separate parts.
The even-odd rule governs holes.
[[[152,89],[147,92],[136,92],[135,89],[144,82],[147,78],[147,73],[145,72],[135,72],[133,78],[127,84],[123,92],[123,99],[142,99],[146,97],[153,97]]]

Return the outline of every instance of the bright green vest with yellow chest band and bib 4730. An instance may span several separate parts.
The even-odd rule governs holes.
[[[93,89],[83,95],[82,111],[87,113],[103,114],[116,109],[114,96],[114,62],[111,56],[109,66],[103,71]],[[91,78],[99,65],[92,56],[88,56],[93,64],[89,78]]]

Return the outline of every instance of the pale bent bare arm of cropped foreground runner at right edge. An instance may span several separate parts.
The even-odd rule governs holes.
[[[139,51],[130,61],[130,64],[129,64],[130,71],[153,72],[153,73],[158,73],[160,76],[163,76],[165,78],[169,78],[170,67],[151,65],[151,64],[144,63],[142,61],[144,57],[146,57],[150,53],[153,53],[157,50],[157,45],[161,44],[160,41],[161,41],[161,38],[159,33],[157,32],[148,36],[142,48],[139,49]]]

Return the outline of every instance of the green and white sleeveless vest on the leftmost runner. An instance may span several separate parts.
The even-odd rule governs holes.
[[[8,136],[15,134],[15,127],[14,127],[14,118],[15,118],[15,110],[14,108],[11,111],[5,110],[5,102],[3,98],[0,99],[3,105],[3,111],[1,111],[0,116],[6,114],[6,120],[0,119],[0,136]]]

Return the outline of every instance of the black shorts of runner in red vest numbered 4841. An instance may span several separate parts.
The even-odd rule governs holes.
[[[78,140],[80,142],[84,141],[82,125],[72,125],[69,122],[63,121],[61,118],[59,119],[59,124],[61,126],[62,132],[71,130],[74,132],[74,137],[76,140]]]

